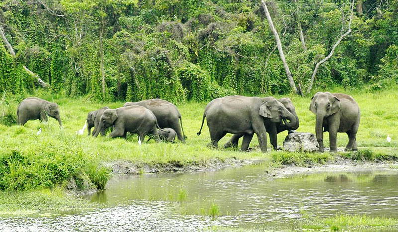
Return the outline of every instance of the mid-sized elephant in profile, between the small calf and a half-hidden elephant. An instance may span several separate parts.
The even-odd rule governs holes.
[[[140,136],[141,142],[147,134],[152,135],[156,142],[160,142],[158,126],[155,115],[145,107],[129,106],[116,109],[107,109],[102,113],[100,124],[94,137],[97,137],[101,130],[113,126],[109,137],[126,138],[127,132],[136,133]]]

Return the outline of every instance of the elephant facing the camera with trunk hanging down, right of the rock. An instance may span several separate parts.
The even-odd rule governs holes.
[[[323,132],[329,132],[330,151],[337,151],[337,132],[345,132],[349,141],[346,151],[358,150],[356,134],[361,113],[355,100],[346,94],[317,92],[311,100],[309,110],[316,115],[316,139],[319,151],[323,152]]]

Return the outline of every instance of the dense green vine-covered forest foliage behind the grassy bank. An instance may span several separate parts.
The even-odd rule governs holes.
[[[350,2],[267,5],[296,85],[306,88],[347,30]],[[397,84],[398,2],[355,1],[354,9],[353,31],[320,67],[317,89]],[[17,53],[10,56],[0,40],[0,92],[34,88],[22,65],[54,92],[102,100],[179,103],[291,91],[259,0],[4,0],[0,24]]]

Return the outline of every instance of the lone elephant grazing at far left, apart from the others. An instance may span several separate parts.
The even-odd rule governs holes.
[[[57,119],[59,126],[62,126],[59,107],[56,103],[30,97],[19,103],[16,110],[16,121],[18,125],[25,125],[27,121],[37,119],[47,122],[47,115]]]

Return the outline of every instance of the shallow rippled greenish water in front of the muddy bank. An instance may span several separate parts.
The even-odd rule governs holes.
[[[329,172],[273,179],[264,165],[196,173],[121,176],[84,196],[95,212],[12,217],[13,231],[201,231],[212,225],[295,228],[303,214],[398,217],[398,171]],[[215,205],[221,216],[212,219]],[[205,216],[203,216],[205,215]]]

